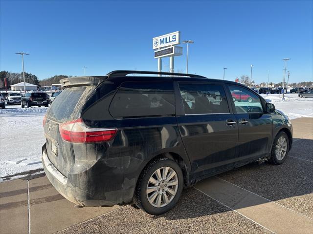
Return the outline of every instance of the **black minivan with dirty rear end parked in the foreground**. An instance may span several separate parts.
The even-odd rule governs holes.
[[[134,202],[159,215],[184,186],[253,161],[281,164],[291,148],[288,117],[235,82],[143,71],[60,82],[42,159],[52,185],[80,206]]]

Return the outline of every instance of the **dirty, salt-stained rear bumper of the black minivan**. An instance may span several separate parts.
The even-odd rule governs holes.
[[[99,194],[95,195],[97,198],[94,197],[93,191],[95,189],[88,182],[90,180],[88,171],[77,171],[76,174],[71,174],[69,177],[61,174],[49,160],[45,145],[42,148],[45,174],[53,187],[67,200],[80,206],[112,206],[118,204],[118,200],[107,200],[105,193],[100,197]],[[105,181],[103,182],[105,183]],[[118,191],[114,197],[118,197],[118,195],[121,196],[121,191]]]

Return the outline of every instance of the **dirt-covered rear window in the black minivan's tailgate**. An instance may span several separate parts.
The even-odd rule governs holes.
[[[47,111],[47,117],[56,122],[65,122],[80,117],[80,111],[94,86],[76,86],[63,90]]]

